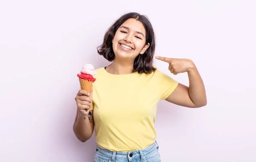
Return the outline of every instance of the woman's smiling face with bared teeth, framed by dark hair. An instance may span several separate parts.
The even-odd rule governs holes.
[[[146,43],[146,32],[143,24],[130,18],[116,31],[112,40],[115,58],[134,60],[139,54],[144,54],[149,47]]]

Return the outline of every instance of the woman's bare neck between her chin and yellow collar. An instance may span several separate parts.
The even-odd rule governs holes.
[[[108,71],[108,73],[110,74],[118,74],[118,75],[122,75],[122,74],[131,74],[132,69],[133,69],[133,65],[134,62],[120,62],[118,60],[113,60],[113,62],[108,65],[108,67],[106,68],[106,71]]]

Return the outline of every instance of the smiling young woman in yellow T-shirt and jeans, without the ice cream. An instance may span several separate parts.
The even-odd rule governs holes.
[[[175,75],[187,72],[187,87],[152,65],[154,50],[151,23],[138,13],[123,15],[106,32],[98,53],[112,63],[96,69],[91,97],[84,90],[77,93],[73,126],[82,142],[95,128],[94,162],[160,162],[154,128],[158,102],[165,99],[189,108],[207,104],[192,60],[156,57],[169,63]]]

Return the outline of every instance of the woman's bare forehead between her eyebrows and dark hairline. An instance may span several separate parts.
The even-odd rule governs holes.
[[[124,23],[122,23],[121,26],[126,26],[132,31],[140,31],[143,34],[146,34],[143,23],[141,23],[139,20],[136,20],[134,18],[127,19]]]

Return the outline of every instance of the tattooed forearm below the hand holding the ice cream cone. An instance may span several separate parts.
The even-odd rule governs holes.
[[[81,141],[85,142],[93,134],[93,128],[91,128],[90,121],[88,117],[81,117],[78,114],[77,120],[73,125],[74,133],[76,134],[76,137]]]

